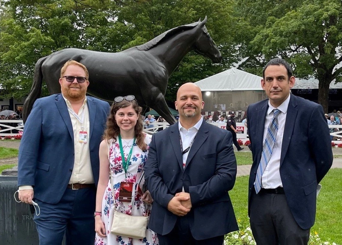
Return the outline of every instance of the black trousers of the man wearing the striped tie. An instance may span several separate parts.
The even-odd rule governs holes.
[[[257,245],[307,245],[310,229],[299,227],[285,194],[257,194],[253,188],[250,202],[250,223]]]

